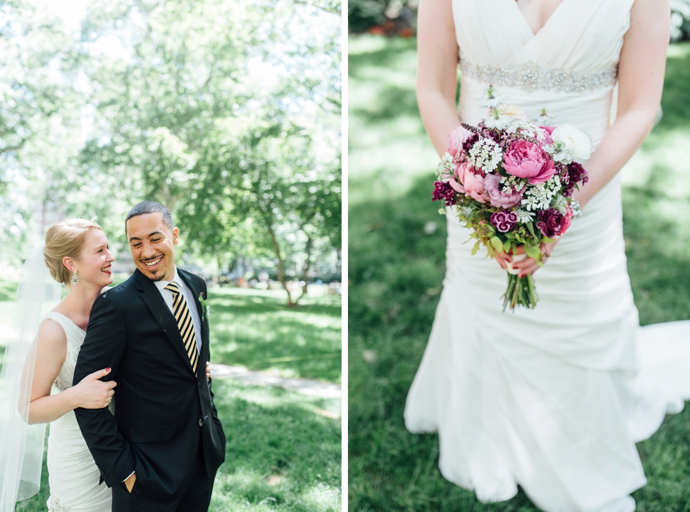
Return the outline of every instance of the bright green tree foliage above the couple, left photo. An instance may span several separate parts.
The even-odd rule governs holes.
[[[27,103],[33,117],[23,124],[35,120],[43,132],[34,129],[35,149],[13,153],[35,171],[8,190],[19,201],[2,197],[31,197],[26,210],[3,208],[9,233],[40,232],[38,210],[48,212],[46,224],[97,216],[124,248],[124,215],[156,199],[179,223],[186,259],[220,268],[277,262],[290,275],[318,259],[322,272],[336,271],[339,2],[92,0],[79,39],[39,19],[40,39],[29,8],[3,8],[16,19],[2,42],[0,59],[12,71],[6,88],[23,73],[60,99],[45,111]],[[15,57],[19,48],[31,59]]]

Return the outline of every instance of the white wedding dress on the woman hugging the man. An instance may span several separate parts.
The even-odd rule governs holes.
[[[51,312],[44,318],[55,320],[67,335],[67,355],[55,380],[55,387],[63,391],[72,386],[77,356],[86,332],[61,313]],[[115,402],[111,402],[111,412],[114,406]],[[100,477],[74,411],[51,422],[48,435],[48,511],[110,512],[112,491],[105,482],[99,484]]]

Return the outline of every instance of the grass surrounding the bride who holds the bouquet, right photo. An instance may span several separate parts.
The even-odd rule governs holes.
[[[446,225],[431,202],[435,151],[414,101],[415,41],[349,41],[348,506],[357,512],[536,511],[524,493],[481,504],[440,475],[437,435],[404,401],[428,339]],[[669,50],[664,117],[622,171],[624,235],[642,324],[690,318],[690,44]],[[690,406],[638,444],[638,511],[690,510]]]

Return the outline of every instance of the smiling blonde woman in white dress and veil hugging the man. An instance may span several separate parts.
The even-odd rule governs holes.
[[[0,512],[13,511],[15,500],[37,493],[44,424],[49,422],[48,511],[110,512],[112,491],[100,482],[73,410],[110,407],[113,412],[117,383],[99,380],[110,368],[84,377],[76,386],[72,376],[91,306],[112,283],[113,261],[101,226],[66,219],[48,229],[43,249],[24,265],[25,283],[15,299],[19,325],[13,330],[0,380]],[[44,279],[46,270],[53,280]],[[39,322],[32,313],[38,313],[42,299],[51,295],[50,288],[53,299],[59,299],[58,283],[66,284],[68,293]],[[206,377],[210,377],[208,362]],[[59,390],[55,395],[50,394],[53,385]]]

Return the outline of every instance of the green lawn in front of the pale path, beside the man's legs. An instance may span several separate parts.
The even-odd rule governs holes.
[[[339,400],[233,380],[214,380],[213,387],[228,444],[210,512],[340,510]],[[43,457],[41,491],[17,504],[17,512],[46,509],[50,491]]]

